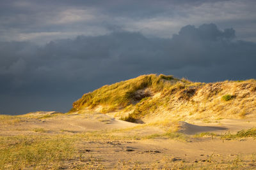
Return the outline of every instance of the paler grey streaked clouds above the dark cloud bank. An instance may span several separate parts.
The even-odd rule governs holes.
[[[172,38],[180,27],[214,22],[234,27],[239,39],[256,42],[254,0],[109,0],[0,2],[0,40],[33,41],[77,35],[99,36],[116,30]]]

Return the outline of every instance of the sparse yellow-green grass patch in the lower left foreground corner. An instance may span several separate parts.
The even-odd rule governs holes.
[[[72,139],[61,136],[1,136],[0,148],[0,169],[58,169],[74,155]]]

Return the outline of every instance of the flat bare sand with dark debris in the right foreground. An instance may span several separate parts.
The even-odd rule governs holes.
[[[243,162],[243,167],[256,168],[255,148],[253,139],[244,141],[221,141],[220,139],[204,139],[189,143],[177,142],[170,139],[154,139],[144,141],[95,141],[81,144],[81,149],[86,146],[88,152],[84,157],[93,157],[100,160],[104,167],[113,168],[141,165],[143,168],[162,169],[164,166],[173,167],[180,164],[202,166],[202,163],[223,163],[237,158]],[[125,166],[124,166],[125,167]],[[220,166],[221,167],[221,166]],[[224,168],[225,169],[225,168]]]

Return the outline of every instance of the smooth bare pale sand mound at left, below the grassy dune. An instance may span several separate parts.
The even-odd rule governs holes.
[[[57,114],[57,115],[56,115]],[[0,124],[0,134],[34,134],[36,129],[49,133],[88,132],[134,127],[136,124],[116,120],[102,113],[64,114],[38,111],[20,118],[15,124]]]

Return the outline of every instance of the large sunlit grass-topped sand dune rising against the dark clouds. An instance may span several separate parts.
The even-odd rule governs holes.
[[[99,111],[129,122],[256,118],[256,80],[192,82],[148,74],[84,94],[70,112]]]

